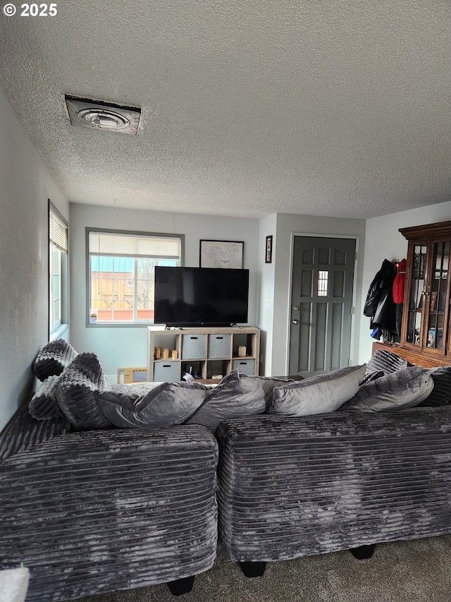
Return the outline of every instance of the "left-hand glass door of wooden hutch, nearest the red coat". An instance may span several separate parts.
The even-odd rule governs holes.
[[[426,300],[426,243],[414,244],[406,342],[421,347],[421,315]]]

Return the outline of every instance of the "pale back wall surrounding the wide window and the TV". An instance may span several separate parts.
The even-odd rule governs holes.
[[[117,368],[147,365],[146,327],[86,325],[85,227],[185,234],[185,265],[199,265],[199,240],[245,241],[249,269],[249,324],[257,324],[259,221],[183,213],[123,210],[70,204],[70,342],[77,351],[99,357],[107,378],[115,382]]]

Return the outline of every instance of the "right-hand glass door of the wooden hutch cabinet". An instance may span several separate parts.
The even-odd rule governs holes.
[[[427,326],[425,347],[445,349],[445,311],[447,297],[450,241],[434,242],[431,260],[431,279],[427,283]]]

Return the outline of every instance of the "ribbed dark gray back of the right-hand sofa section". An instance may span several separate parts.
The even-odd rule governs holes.
[[[451,407],[225,421],[219,533],[231,558],[451,532]]]

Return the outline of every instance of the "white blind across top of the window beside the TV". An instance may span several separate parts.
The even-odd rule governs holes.
[[[89,231],[89,255],[179,259],[180,246],[178,236],[141,236]]]

